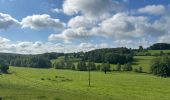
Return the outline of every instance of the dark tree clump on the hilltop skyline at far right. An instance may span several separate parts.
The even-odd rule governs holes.
[[[170,50],[170,44],[168,43],[156,43],[150,46],[148,49],[151,50]]]

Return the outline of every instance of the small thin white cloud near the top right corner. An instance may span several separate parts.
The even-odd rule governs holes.
[[[164,7],[164,5],[148,5],[144,8],[138,9],[138,12],[160,15],[166,12],[166,8]]]

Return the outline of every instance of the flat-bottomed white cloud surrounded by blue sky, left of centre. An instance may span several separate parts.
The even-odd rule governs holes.
[[[59,19],[53,19],[50,15],[32,15],[27,16],[22,19],[22,28],[31,29],[42,29],[42,28],[53,28],[53,29],[63,29],[65,24]]]

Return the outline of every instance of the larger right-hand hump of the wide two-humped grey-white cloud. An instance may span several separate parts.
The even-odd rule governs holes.
[[[149,23],[147,17],[131,16],[127,13],[117,13],[103,20],[100,26],[93,28],[92,31],[114,39],[159,36],[163,32]]]

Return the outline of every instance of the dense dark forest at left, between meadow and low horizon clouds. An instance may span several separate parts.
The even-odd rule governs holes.
[[[63,53],[45,53],[38,55],[0,53],[0,59],[3,59],[3,61],[11,66],[49,68],[51,67],[51,59],[57,59],[57,57],[63,55]]]

